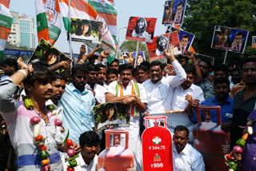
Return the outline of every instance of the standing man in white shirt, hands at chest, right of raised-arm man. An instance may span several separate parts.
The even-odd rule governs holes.
[[[202,89],[198,85],[193,84],[194,78],[196,77],[194,66],[186,64],[183,68],[186,71],[186,81],[174,89],[172,110],[185,109],[185,112],[170,115],[171,122],[168,125],[168,129],[170,133],[174,133],[174,128],[177,125],[185,125],[190,130],[190,144],[193,145],[192,130],[194,124],[190,121],[189,117],[193,117],[192,108],[198,107],[205,99]]]

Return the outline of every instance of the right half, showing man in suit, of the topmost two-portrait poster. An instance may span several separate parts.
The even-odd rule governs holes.
[[[182,24],[186,10],[186,0],[175,0],[171,23]]]

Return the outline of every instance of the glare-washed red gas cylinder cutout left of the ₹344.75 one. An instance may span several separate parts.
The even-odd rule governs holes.
[[[98,171],[135,171],[134,153],[128,149],[129,132],[123,129],[107,129],[105,133],[106,149],[98,155]],[[113,135],[111,141],[110,134]],[[126,136],[124,147],[122,134]]]

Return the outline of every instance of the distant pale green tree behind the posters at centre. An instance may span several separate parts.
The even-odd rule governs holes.
[[[137,41],[125,41],[120,46],[120,53],[122,52],[136,52]],[[144,52],[146,60],[149,60],[149,52],[145,42],[138,42],[138,52]]]

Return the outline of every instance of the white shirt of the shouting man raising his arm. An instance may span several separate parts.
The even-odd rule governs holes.
[[[142,85],[144,85],[147,95],[146,110],[148,113],[163,113],[172,109],[174,88],[186,80],[186,72],[178,61],[175,60],[172,65],[176,76],[167,76],[156,84],[151,82],[151,79],[143,82]]]

